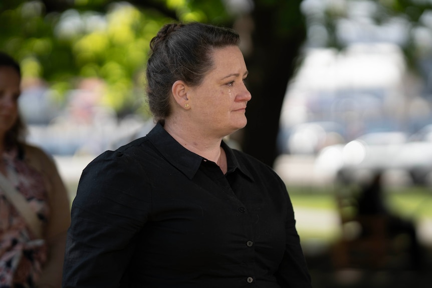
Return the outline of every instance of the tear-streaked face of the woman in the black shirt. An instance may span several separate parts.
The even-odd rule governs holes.
[[[209,135],[224,137],[246,126],[246,105],[251,93],[243,54],[237,46],[215,49],[214,67],[203,82],[188,93],[190,116]]]

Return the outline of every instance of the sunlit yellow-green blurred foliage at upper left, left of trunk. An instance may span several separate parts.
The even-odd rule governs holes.
[[[1,50],[21,63],[24,78],[47,81],[60,102],[67,101],[66,92],[77,89],[81,79],[99,78],[106,83],[103,104],[119,114],[135,112],[143,103],[137,87],[143,86],[149,42],[163,24],[229,19],[219,0],[135,2],[76,0],[67,6],[66,1],[2,1]]]

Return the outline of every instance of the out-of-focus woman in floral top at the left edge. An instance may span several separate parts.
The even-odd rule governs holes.
[[[20,66],[0,53],[0,287],[60,287],[69,199],[52,159],[23,140],[20,84]]]

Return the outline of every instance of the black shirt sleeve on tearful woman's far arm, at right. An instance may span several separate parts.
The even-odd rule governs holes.
[[[286,191],[285,184],[281,184],[283,186],[282,191],[285,191],[287,207],[285,222],[286,243],[284,257],[279,265],[276,276],[282,288],[311,288],[311,277],[296,229],[293,205]]]

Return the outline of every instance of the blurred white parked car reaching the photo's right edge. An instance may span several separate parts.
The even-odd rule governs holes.
[[[315,167],[342,181],[355,181],[362,174],[381,170],[402,171],[413,184],[431,185],[432,142],[409,139],[401,131],[368,133],[322,149]]]

